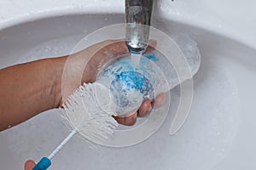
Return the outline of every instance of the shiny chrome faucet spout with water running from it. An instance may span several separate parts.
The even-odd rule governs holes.
[[[131,53],[143,54],[148,47],[153,0],[125,0],[125,42]]]

